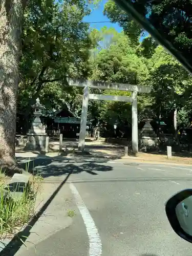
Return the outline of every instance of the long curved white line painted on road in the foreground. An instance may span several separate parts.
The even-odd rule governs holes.
[[[97,227],[92,219],[90,212],[84,204],[81,196],[79,195],[76,187],[70,183],[71,191],[75,197],[77,207],[82,216],[84,225],[86,226],[88,237],[89,237],[89,256],[101,256],[102,255],[102,244],[101,239],[97,230]]]

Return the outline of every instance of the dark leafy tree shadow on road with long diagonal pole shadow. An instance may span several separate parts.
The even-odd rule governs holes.
[[[23,159],[24,160],[24,159]],[[22,160],[20,160],[22,161]],[[56,158],[38,158],[38,159],[32,159],[27,160],[27,163],[20,162],[19,167],[20,168],[28,168],[28,171],[30,173],[33,173],[34,175],[36,173],[40,174],[42,177],[50,177],[50,176],[61,176],[63,174],[66,174],[66,178],[61,182],[61,184],[57,187],[57,189],[54,191],[52,196],[47,200],[47,202],[40,208],[40,210],[37,212],[37,214],[32,218],[32,220],[29,222],[29,224],[25,227],[23,231],[18,232],[15,234],[13,239],[9,242],[9,244],[0,252],[0,256],[14,256],[15,253],[19,250],[19,248],[26,242],[28,237],[30,236],[30,231],[32,227],[35,225],[35,223],[38,221],[38,219],[42,216],[42,214],[45,212],[47,207],[50,205],[52,200],[54,200],[55,196],[58,194],[59,190],[62,188],[62,186],[67,182],[71,174],[79,174],[81,172],[87,172],[91,175],[97,175],[95,173],[98,172],[107,172],[112,170],[113,168],[111,166],[107,165],[101,165],[99,163],[95,163],[93,161],[84,162],[83,159],[56,159]],[[106,161],[106,160],[105,160]],[[105,162],[104,161],[104,162]],[[57,164],[55,164],[55,163]],[[101,161],[103,162],[103,161]],[[65,165],[63,165],[65,163]],[[66,164],[67,163],[67,164]],[[80,165],[75,165],[75,164]],[[27,167],[26,167],[27,166]],[[36,168],[36,169],[35,169]],[[35,173],[35,170],[37,171]]]

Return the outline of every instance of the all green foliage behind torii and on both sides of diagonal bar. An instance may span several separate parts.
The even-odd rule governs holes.
[[[190,1],[187,2],[190,6]],[[143,15],[159,26],[160,31],[166,32],[167,38],[179,50],[190,56],[191,42],[187,38],[192,38],[191,30],[186,32],[191,26],[190,17],[187,12],[179,11],[186,8],[186,2],[183,6],[179,0],[164,0],[156,5],[154,2],[145,4],[143,0],[134,3]],[[82,19],[90,11],[84,0],[29,2],[20,61],[22,79],[18,112],[29,110],[32,100],[40,96],[47,109],[58,109],[67,104],[71,111],[80,115],[82,89],[66,86],[65,78],[71,76],[152,86],[151,94],[138,96],[139,121],[148,115],[146,108],[149,108],[150,117],[172,125],[170,113],[177,109],[178,123],[188,125],[192,110],[191,76],[151,36],[139,41],[143,29],[111,0],[105,4],[104,14],[112,22],[118,22],[123,32],[106,27],[100,31],[89,30],[89,25]],[[170,13],[173,20],[169,18]],[[181,24],[181,18],[185,24]],[[92,89],[91,93],[101,91]],[[109,90],[102,93],[130,95]],[[131,126],[131,104],[90,101],[88,118],[94,119],[94,124],[107,123],[112,129],[117,123],[124,136]]]

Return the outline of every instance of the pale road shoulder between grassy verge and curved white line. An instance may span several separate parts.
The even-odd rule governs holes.
[[[26,250],[37,246],[38,243],[47,240],[54,233],[69,227],[73,218],[68,217],[70,209],[75,211],[73,196],[69,184],[64,184],[57,194],[55,191],[60,184],[42,183],[36,199],[36,216],[41,213],[35,224],[31,227],[29,236],[15,255],[25,255]],[[50,198],[54,195],[54,198]],[[42,209],[45,209],[42,211]]]

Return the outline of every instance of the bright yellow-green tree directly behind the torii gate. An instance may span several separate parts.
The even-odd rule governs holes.
[[[145,85],[146,79],[148,78],[148,69],[145,64],[146,59],[141,54],[137,54],[138,49],[133,47],[133,42],[130,37],[125,35],[124,32],[117,33],[117,31],[113,29],[102,29],[100,31],[101,37],[98,36],[98,32],[94,32],[97,37],[100,38],[100,42],[97,51],[94,52],[94,58],[91,58],[92,73],[90,74],[90,78],[98,81]],[[112,37],[111,35],[115,36]],[[101,46],[103,45],[105,47],[102,48]],[[130,96],[130,92],[122,91],[106,90],[103,93]],[[148,99],[144,102],[143,97],[141,101],[142,104],[140,104],[139,96],[139,113],[141,108],[144,108],[145,103],[149,103]],[[108,132],[111,130],[111,136],[114,135],[114,123],[118,124],[119,136],[127,136],[130,132],[130,103],[91,101],[89,110],[93,114],[91,116],[92,118],[96,117],[100,123],[107,124],[108,127],[106,127],[106,129],[109,129]]]

